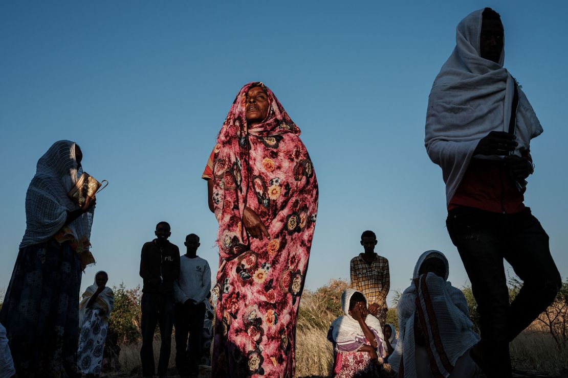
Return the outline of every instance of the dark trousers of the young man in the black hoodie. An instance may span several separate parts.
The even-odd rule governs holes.
[[[158,361],[158,375],[165,375],[170,362],[172,349],[172,328],[174,324],[173,294],[148,293],[142,294],[142,375],[154,375],[154,332],[156,324],[160,326],[162,345]]]

